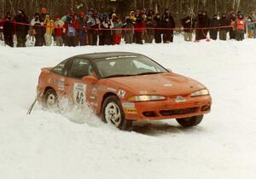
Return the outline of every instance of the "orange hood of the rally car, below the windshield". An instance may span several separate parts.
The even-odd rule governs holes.
[[[137,95],[190,95],[206,87],[199,82],[175,73],[160,73],[131,77],[108,78],[120,89],[131,90]]]

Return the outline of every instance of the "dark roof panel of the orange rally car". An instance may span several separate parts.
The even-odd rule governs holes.
[[[90,59],[104,59],[110,58],[115,56],[128,56],[128,55],[141,55],[132,52],[101,52],[101,53],[93,53],[93,54],[83,54],[83,55],[76,55],[75,57],[79,58],[90,58]]]

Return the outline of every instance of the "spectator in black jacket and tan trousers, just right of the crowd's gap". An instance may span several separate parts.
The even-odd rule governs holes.
[[[185,41],[192,41],[192,32],[193,28],[195,27],[195,20],[192,19],[191,15],[188,14],[187,17],[181,20],[183,31],[184,31],[184,40]]]

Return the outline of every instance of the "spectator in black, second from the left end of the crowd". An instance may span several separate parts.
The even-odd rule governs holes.
[[[15,21],[29,24],[26,14],[23,10],[18,11],[19,14],[15,16]],[[27,25],[16,25],[16,36],[17,36],[17,47],[26,47],[26,35],[28,33],[29,26]]]

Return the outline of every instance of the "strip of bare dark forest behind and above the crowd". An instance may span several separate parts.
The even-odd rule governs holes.
[[[256,11],[256,0],[0,0],[0,7],[0,18],[7,12],[15,15],[18,9],[33,15],[44,7],[51,15],[65,14],[68,9],[74,13],[87,12],[88,9],[110,13],[115,9],[121,17],[136,9],[154,9],[160,14],[169,9],[175,19],[180,19],[189,12],[196,16],[201,10],[207,10],[211,17],[213,14],[228,14],[232,9],[252,14]]]

